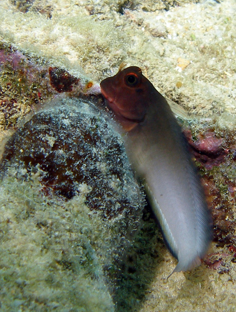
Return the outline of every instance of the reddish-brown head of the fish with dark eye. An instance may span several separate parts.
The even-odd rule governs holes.
[[[102,80],[100,86],[106,106],[125,130],[131,130],[145,119],[154,87],[139,67],[120,70],[115,76]]]

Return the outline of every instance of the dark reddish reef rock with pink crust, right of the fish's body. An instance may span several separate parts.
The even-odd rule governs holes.
[[[196,159],[208,206],[214,221],[214,241],[224,247],[206,257],[209,267],[225,273],[232,270],[236,254],[236,131],[215,126],[215,121],[191,121],[191,132],[185,132]]]

